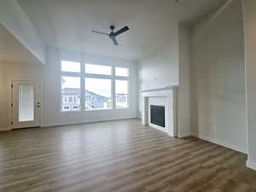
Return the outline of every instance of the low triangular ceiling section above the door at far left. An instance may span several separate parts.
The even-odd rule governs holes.
[[[4,26],[0,25],[0,61],[35,64],[37,58],[30,53]]]

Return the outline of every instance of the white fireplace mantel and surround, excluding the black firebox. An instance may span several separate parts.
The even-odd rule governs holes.
[[[155,89],[140,90],[143,96],[143,125],[150,125],[160,131],[165,131],[171,137],[177,137],[177,89],[177,85],[166,85]],[[165,128],[150,123],[150,104],[157,101],[165,106]]]

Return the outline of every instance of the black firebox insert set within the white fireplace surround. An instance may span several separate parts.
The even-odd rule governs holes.
[[[166,127],[165,106],[150,105],[150,122],[154,125]]]

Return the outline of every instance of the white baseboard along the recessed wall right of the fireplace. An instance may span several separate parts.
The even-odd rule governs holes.
[[[223,141],[220,141],[216,138],[212,138],[212,137],[205,137],[205,136],[202,136],[202,135],[198,135],[198,134],[192,134],[194,137],[198,137],[202,140],[206,140],[207,142],[210,142],[210,143],[215,143],[215,144],[218,144],[218,145],[221,145],[221,146],[224,146],[225,148],[231,148],[235,151],[239,151],[243,154],[247,154],[247,148],[242,148],[240,146],[237,146],[237,145],[234,145],[234,144],[230,144],[230,143],[225,143]]]

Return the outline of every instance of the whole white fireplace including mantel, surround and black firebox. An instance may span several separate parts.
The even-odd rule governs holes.
[[[140,92],[143,125],[177,137],[177,86],[169,84]]]

